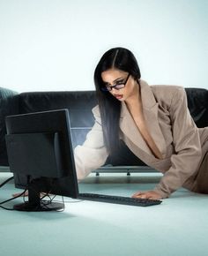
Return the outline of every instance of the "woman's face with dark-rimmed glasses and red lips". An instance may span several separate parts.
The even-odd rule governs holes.
[[[101,73],[101,78],[105,87],[112,87],[112,90],[106,94],[112,94],[117,100],[127,101],[131,96],[138,93],[138,84],[128,72],[123,72],[117,69],[110,69]],[[125,87],[118,89],[119,85],[125,84]],[[115,88],[114,86],[118,86]]]

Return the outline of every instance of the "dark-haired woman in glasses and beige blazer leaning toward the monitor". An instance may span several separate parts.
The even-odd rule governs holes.
[[[119,140],[164,176],[133,197],[160,200],[181,186],[208,193],[208,127],[198,129],[182,87],[148,86],[128,49],[109,49],[94,72],[99,106],[83,146],[75,148],[78,179],[116,152]]]

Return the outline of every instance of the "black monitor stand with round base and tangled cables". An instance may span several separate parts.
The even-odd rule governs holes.
[[[13,209],[26,212],[61,211],[64,209],[64,204],[51,200],[41,200],[38,183],[32,182],[28,184],[28,201],[14,205]]]

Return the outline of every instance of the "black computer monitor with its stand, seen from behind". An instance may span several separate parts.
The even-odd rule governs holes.
[[[14,206],[23,211],[63,208],[41,200],[41,192],[78,197],[68,109],[8,116],[6,146],[17,188],[28,190],[28,201]]]

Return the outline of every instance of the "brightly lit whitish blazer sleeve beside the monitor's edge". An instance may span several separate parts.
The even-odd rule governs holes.
[[[78,181],[84,179],[93,169],[100,168],[108,157],[107,149],[104,146],[98,106],[93,108],[93,116],[95,123],[92,130],[87,133],[84,144],[74,149]]]

